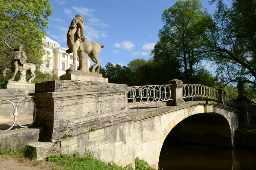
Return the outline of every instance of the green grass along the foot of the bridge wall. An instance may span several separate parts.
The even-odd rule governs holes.
[[[0,149],[0,158],[23,159],[26,163],[38,166],[42,161],[37,161],[29,147],[24,146],[16,150]],[[67,154],[47,156],[46,161],[53,162],[52,170],[134,170],[131,164],[120,167],[113,162],[106,163],[93,157],[91,150],[85,150],[84,155],[74,153],[72,156]],[[135,170],[154,170],[144,159],[135,159]]]

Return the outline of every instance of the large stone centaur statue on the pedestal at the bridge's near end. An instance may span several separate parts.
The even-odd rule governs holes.
[[[88,42],[83,35],[84,33],[84,17],[82,15],[76,15],[72,20],[69,30],[67,32],[67,45],[68,54],[73,52],[73,65],[68,70],[76,69],[76,55],[79,57],[79,68],[77,70],[89,72],[87,64],[87,55],[92,59],[96,65],[93,66],[91,72],[99,73],[100,62],[98,56],[101,52],[101,48],[104,45],[99,45],[97,42]],[[97,71],[95,69],[97,68]],[[68,70],[66,71],[68,73]]]

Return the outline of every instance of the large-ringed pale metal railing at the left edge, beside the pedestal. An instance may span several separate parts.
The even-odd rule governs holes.
[[[18,102],[17,102],[17,104],[16,104],[16,106],[15,106],[15,104],[11,101],[12,99],[15,99],[15,100],[19,99]],[[29,99],[29,100],[31,100],[31,101],[33,102],[33,104],[34,104],[34,109],[33,109],[33,111],[34,111],[34,119],[33,119],[33,122],[32,122],[30,125],[28,125],[28,126],[20,125],[20,123],[18,122],[18,115],[19,115],[19,113],[18,113],[18,105],[19,105],[19,103],[20,103],[23,99]],[[13,112],[14,121],[13,121],[11,127],[9,127],[9,128],[6,129],[6,130],[0,130],[0,132],[4,132],[4,131],[11,130],[12,127],[14,127],[14,125],[15,125],[16,122],[17,122],[17,125],[19,125],[20,127],[29,127],[29,126],[32,126],[32,124],[35,122],[36,113],[37,113],[38,109],[37,109],[36,106],[35,106],[35,102],[34,102],[34,100],[32,99],[32,96],[0,99],[0,102],[1,102],[1,101],[7,101],[7,102],[10,102],[10,103],[12,104],[13,110],[14,110],[14,112]]]

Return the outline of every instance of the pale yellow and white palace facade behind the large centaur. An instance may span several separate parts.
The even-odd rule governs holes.
[[[49,37],[45,37],[43,40],[43,48],[46,54],[43,56],[44,64],[41,65],[41,71],[51,72],[57,76],[66,74],[65,70],[73,65],[73,53],[67,54],[68,48],[63,48],[61,45],[51,40]],[[88,59],[88,67],[90,68],[91,59]],[[79,58],[76,56],[76,68],[79,67]]]

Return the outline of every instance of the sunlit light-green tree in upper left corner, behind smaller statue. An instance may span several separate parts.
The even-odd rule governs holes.
[[[0,0],[0,70],[12,61],[12,51],[3,40],[14,48],[23,44],[27,60],[42,63],[44,28],[52,14],[49,3],[50,0]]]

